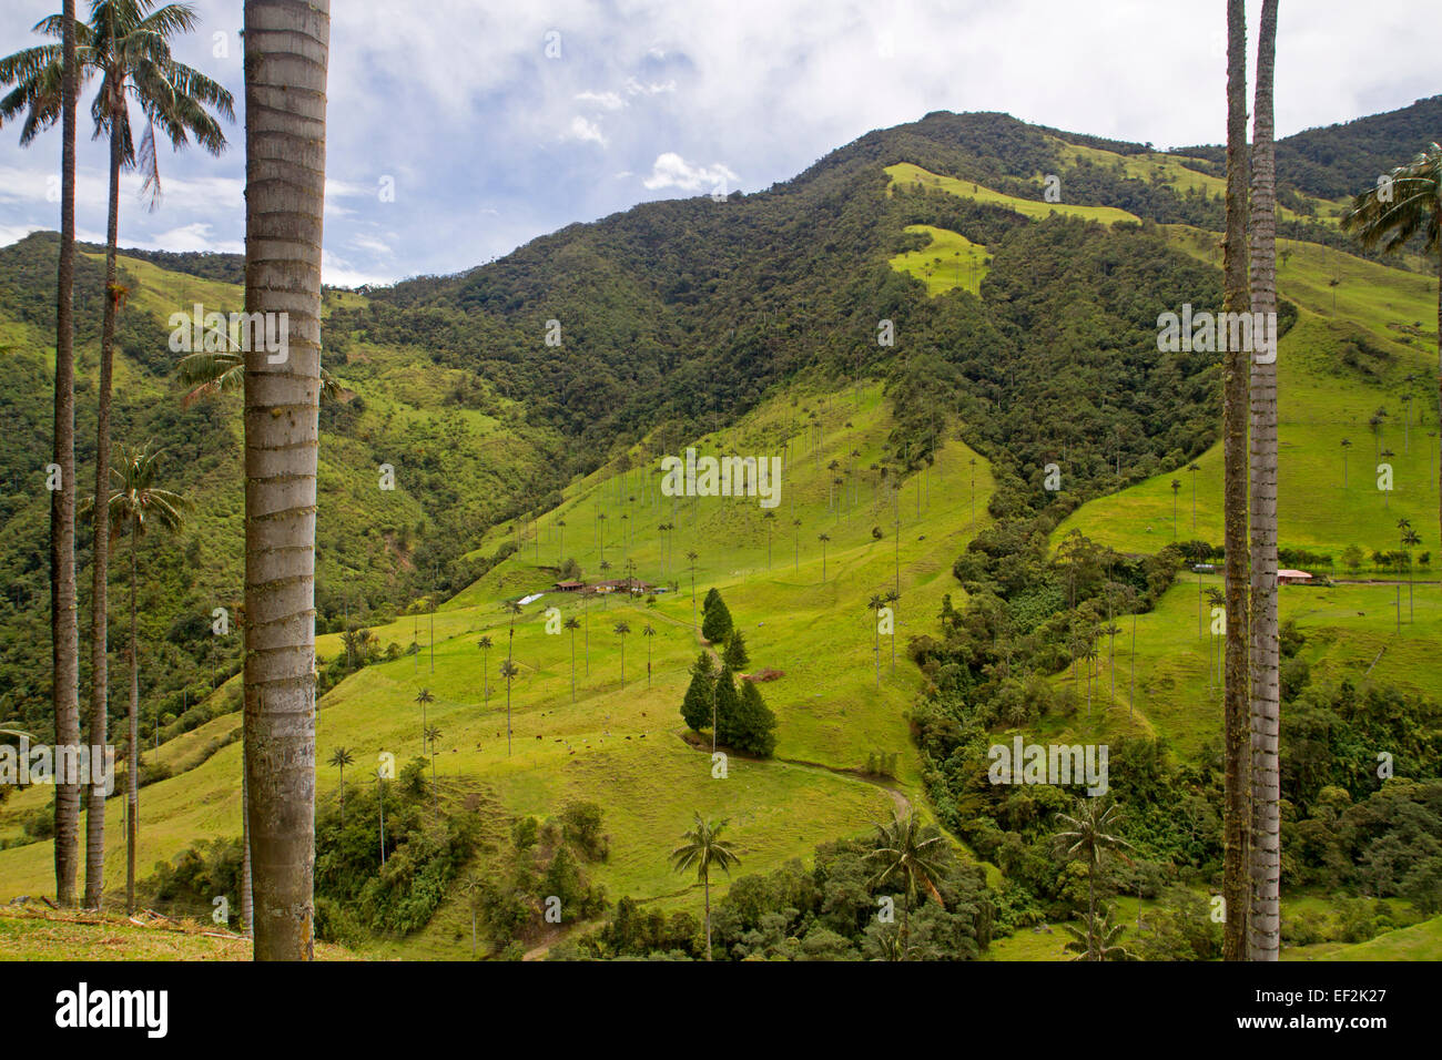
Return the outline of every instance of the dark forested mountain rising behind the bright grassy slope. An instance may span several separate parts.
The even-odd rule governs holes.
[[[1415,150],[1439,105],[1283,140],[1279,179],[1328,195],[1364,187],[1389,150],[1392,162]],[[1350,143],[1366,150],[1343,150]],[[936,112],[868,133],[764,192],[645,203],[459,275],[330,291],[326,365],[346,394],[322,407],[320,629],[459,591],[493,560],[463,561],[486,532],[552,506],[574,474],[637,444],[675,451],[803,372],[885,381],[897,421],[888,463],[900,473],[924,466],[939,425],[959,420],[1002,485],[998,513],[1047,503],[1043,467],[1063,454],[1074,506],[1200,453],[1217,427],[1213,358],[1155,350],[1159,312],[1220,301],[1217,270],[1159,228],[1221,228],[1221,203],[1204,186],[1208,151],[1195,154],[1203,160],[1151,156],[1004,114]],[[1128,167],[1144,159],[1151,172]],[[1040,177],[1056,175],[1066,205],[1113,206],[1138,222],[1031,224],[1005,202],[888,186],[884,167],[900,162],[1035,203]],[[1344,241],[1318,219],[1292,224]],[[888,264],[924,245],[906,231],[914,225],[985,248],[975,291],[932,297]],[[35,731],[49,724],[37,676],[46,498],[35,454],[48,437],[55,248],[53,234],[35,234],[0,249],[0,340],[10,348],[0,358],[0,721]],[[209,616],[238,600],[241,580],[238,401],[182,402],[166,320],[192,301],[238,309],[241,261],[127,251],[121,271],[115,437],[163,444],[172,487],[193,502],[185,538],[147,542],[143,560],[143,699],[159,701],[153,714],[164,718],[238,665],[238,639],[212,636]],[[82,252],[82,469],[101,283],[101,264]],[[878,342],[881,322],[893,345]],[[378,506],[382,464],[397,469],[397,489]]]

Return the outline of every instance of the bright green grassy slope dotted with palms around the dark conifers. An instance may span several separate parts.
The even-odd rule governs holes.
[[[901,751],[900,783],[916,793],[916,764],[908,754],[904,711],[919,686],[919,675],[903,658],[895,675],[888,671],[883,643],[883,679],[877,686],[872,656],[872,619],[867,599],[884,591],[897,577],[900,555],[901,600],[897,607],[898,636],[930,629],[942,594],[953,591],[949,567],[972,532],[970,451],[957,441],[942,450],[936,469],[926,479],[908,479],[900,495],[900,548],[894,536],[874,541],[872,526],[891,529],[890,509],[871,500],[870,463],[877,460],[890,427],[878,387],[849,389],[825,398],[796,392],[763,405],[734,431],[701,441],[704,451],[779,451],[764,440],[777,437],[793,417],[815,410],[823,424],[823,443],[812,451],[808,441],[793,446],[790,469],[783,476],[782,503],[776,508],[771,570],[767,571],[767,522],[754,499],[681,499],[672,515],[671,502],[660,508],[655,486],[645,499],[637,473],[630,473],[624,496],[617,500],[616,479],[591,476],[567,492],[559,512],[542,516],[528,532],[525,547],[509,561],[461,593],[434,616],[402,617],[376,627],[382,646],[408,645],[412,637],[428,645],[435,624],[435,662],[431,672],[428,649],[420,656],[369,666],[332,691],[322,702],[317,760],[324,761],[337,743],[356,751],[356,772],[372,769],[381,751],[404,761],[421,750],[420,710],[415,691],[427,686],[437,702],[428,721],[444,736],[440,741],[438,772],[480,777],[506,813],[552,813],[567,799],[596,799],[606,806],[606,828],[611,835],[611,860],[597,878],[609,893],[645,897],[671,896],[686,904],[699,901],[685,893],[688,881],[666,865],[669,838],[679,835],[692,811],[730,816],[743,857],[743,871],[760,871],[800,857],[823,839],[867,831],[884,819],[894,805],[884,789],[855,776],[829,770],[855,770],[871,751]],[[851,427],[845,424],[851,423]],[[859,453],[851,457],[851,451]],[[855,502],[828,512],[826,464],[845,460],[859,470]],[[838,472],[839,473],[839,472]],[[921,515],[917,516],[920,485]],[[978,519],[985,519],[991,480],[985,464],[976,464]],[[848,480],[848,492],[849,480]],[[795,516],[793,516],[795,502]],[[643,601],[619,599],[585,604],[590,627],[590,675],[585,675],[584,639],[577,639],[577,701],[570,702],[570,636],[548,636],[545,609],[555,604],[562,614],[581,613],[583,601],[548,594],[529,604],[515,630],[515,659],[522,675],[512,689],[515,753],[505,751],[505,688],[499,663],[508,639],[506,617],[499,609],[505,596],[547,588],[554,574],[536,564],[536,534],[542,564],[554,564],[564,551],[575,557],[588,577],[597,577],[601,562],[594,515],[607,513],[606,535],[619,538],[622,515],[627,518],[629,542],[624,555],[636,562],[636,574],[647,581],[672,577],[684,584],[679,594],[663,594],[655,609]],[[557,521],[564,518],[564,531]],[[792,519],[800,518],[797,534]],[[671,564],[663,558],[662,522],[675,522]],[[562,541],[564,532],[564,541]],[[826,580],[822,581],[822,551],[818,535],[826,532]],[[499,544],[482,542],[485,551]],[[561,545],[564,544],[564,549]],[[747,633],[751,669],[771,666],[786,676],[764,685],[769,704],[780,718],[777,761],[754,763],[733,759],[724,782],[709,776],[708,757],[691,750],[681,738],[676,712],[686,684],[686,668],[699,650],[691,627],[689,571],[684,554],[696,549],[698,597],[718,586],[737,622]],[[622,574],[623,548],[606,545],[611,575]],[[797,558],[799,554],[799,558]],[[624,619],[626,688],[620,679],[620,643],[611,632]],[[646,688],[647,639],[642,627],[650,623],[652,685]],[[487,635],[496,643],[490,652],[490,698],[486,705],[482,652],[476,642]],[[884,640],[884,639],[883,639]],[[903,642],[904,646],[904,642]],[[317,640],[322,656],[342,650],[339,637]],[[234,715],[211,723],[216,734],[234,727]],[[209,728],[209,727],[208,727]],[[195,756],[196,744],[211,733],[187,734],[162,747],[167,761]],[[185,741],[185,744],[182,744]],[[196,769],[147,786],[141,792],[141,871],[154,861],[173,857],[196,838],[231,835],[239,822],[239,746],[221,748]],[[322,769],[320,798],[333,798],[335,770]],[[45,805],[39,789],[13,798],[0,812],[0,828],[16,831],[19,816]],[[117,803],[118,812],[118,803]],[[50,845],[33,844],[0,851],[0,881],[4,893],[43,893],[50,875]],[[118,887],[124,874],[123,844],[107,855],[107,877]],[[678,898],[679,894],[679,898]],[[668,904],[671,904],[668,901]],[[385,952],[405,955],[461,955],[469,937],[459,940],[451,930],[456,911],[443,910],[444,923],[414,940],[386,945]],[[469,933],[467,933],[469,935]]]

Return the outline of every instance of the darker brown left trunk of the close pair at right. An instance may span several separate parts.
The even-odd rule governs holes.
[[[1247,297],[1247,55],[1243,0],[1227,0],[1227,238],[1223,274],[1229,313],[1246,313]],[[1237,343],[1240,345],[1240,343]],[[1227,648],[1223,695],[1226,785],[1223,799],[1223,958],[1247,955],[1247,831],[1250,819],[1250,702],[1247,697],[1247,361],[1229,349],[1223,361],[1221,437],[1226,479]]]

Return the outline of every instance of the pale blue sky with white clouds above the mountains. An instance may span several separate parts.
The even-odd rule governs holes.
[[[176,52],[239,112],[241,0],[193,6],[200,30]],[[4,53],[56,7],[6,0]],[[453,273],[650,199],[761,190],[933,110],[1158,147],[1224,138],[1221,0],[336,0],[332,19],[333,284]],[[1435,0],[1283,3],[1278,134],[1438,92],[1436,26]],[[102,241],[92,92],[78,226]],[[153,213],[125,177],[123,245],[244,249],[244,130],[228,136],[219,159],[162,151]],[[0,244],[59,225],[59,133],[17,138],[0,130]]]

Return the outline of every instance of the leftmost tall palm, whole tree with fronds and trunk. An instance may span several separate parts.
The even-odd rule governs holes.
[[[48,19],[36,26],[43,32]],[[55,431],[53,463],[61,470],[59,489],[50,490],[50,704],[55,711],[55,740],[76,746],[81,740],[79,708],[79,622],[75,607],[75,101],[79,97],[81,61],[75,0],[63,0],[58,16],[59,53],[55,58],[25,52],[0,61],[0,84],[16,89],[0,100],[0,125],[25,111],[20,146],[29,146],[45,128],[61,120],[61,251],[55,296]],[[55,36],[55,33],[52,33]],[[53,45],[50,45],[53,48]],[[104,466],[104,464],[102,464]],[[105,741],[91,728],[91,743]],[[85,904],[99,907],[104,884],[104,795],[89,792],[85,851]],[[74,785],[55,785],[55,898],[62,907],[75,904],[79,873],[81,792]],[[99,848],[97,849],[97,844]],[[94,883],[91,880],[94,878]]]

